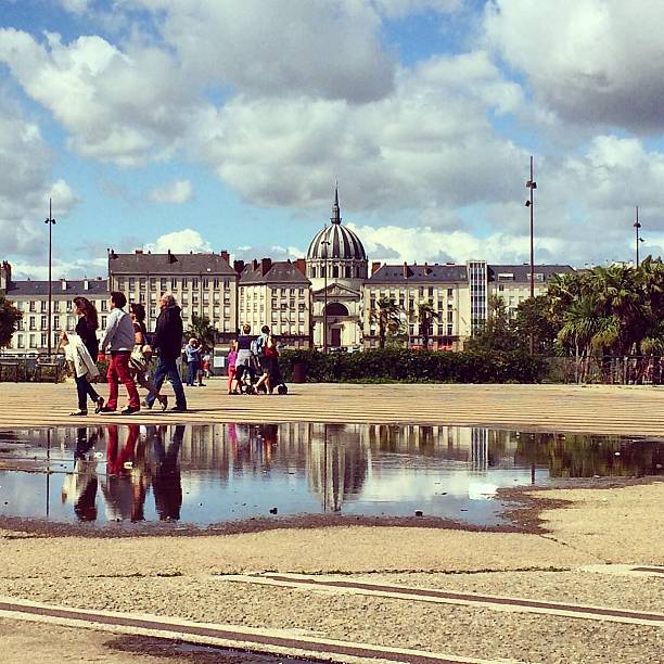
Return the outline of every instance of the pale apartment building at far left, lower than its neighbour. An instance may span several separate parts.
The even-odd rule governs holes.
[[[49,346],[49,282],[22,280],[12,281],[11,267],[7,264],[3,291],[23,314],[18,330],[12,337],[7,353],[14,355],[34,355],[48,353]],[[106,325],[108,312],[107,280],[97,279],[59,279],[51,282],[51,346],[58,347],[60,333],[73,332],[77,317],[73,299],[76,296],[87,297],[99,312],[101,329]]]

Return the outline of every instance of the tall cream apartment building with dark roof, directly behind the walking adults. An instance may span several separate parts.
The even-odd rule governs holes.
[[[238,328],[238,279],[228,252],[219,254],[108,253],[108,288],[127,302],[145,307],[148,330],[154,330],[158,301],[173,293],[182,309],[184,328],[192,316],[206,316],[220,341],[230,340]]]

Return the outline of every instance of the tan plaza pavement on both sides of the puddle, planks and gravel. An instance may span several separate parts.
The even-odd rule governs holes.
[[[269,412],[273,421],[482,423],[662,435],[662,394],[652,388],[576,386],[302,385],[293,386],[286,397],[228,397],[222,385],[213,382],[189,391],[193,412],[177,420],[263,421]],[[71,424],[66,412],[73,403],[72,385],[2,384],[0,426]],[[164,421],[157,413],[130,420],[137,419]],[[176,421],[176,416],[165,420]],[[0,598],[235,625],[291,638],[398,647],[445,655],[447,661],[661,661],[662,625],[233,578],[268,571],[299,573],[664,614],[664,575],[631,571],[664,569],[664,483],[554,489],[534,496],[542,505],[539,533],[346,522],[335,527],[178,537],[167,531],[163,536],[112,538],[5,529],[0,531]],[[184,655],[150,647],[137,647],[128,655],[117,649],[122,637],[93,625],[82,629],[47,617],[30,620],[38,622],[0,612],[3,661],[23,662],[27,651],[43,661],[184,661]],[[417,661],[404,656],[401,661]],[[368,660],[337,655],[335,661]]]

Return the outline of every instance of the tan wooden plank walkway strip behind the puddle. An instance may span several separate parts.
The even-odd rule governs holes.
[[[100,385],[105,396],[106,385]],[[120,387],[120,404],[124,403]],[[170,386],[166,394],[171,395]],[[190,411],[69,416],[73,383],[0,383],[0,427],[95,423],[330,422],[494,425],[664,436],[664,388],[578,385],[290,385],[285,396],[229,396],[210,380],[188,388]],[[173,404],[173,396],[170,397]]]

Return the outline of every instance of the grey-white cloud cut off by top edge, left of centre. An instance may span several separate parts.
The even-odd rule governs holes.
[[[245,94],[304,93],[352,102],[380,99],[392,89],[395,63],[382,49],[380,16],[363,1],[129,4],[155,11],[164,39],[199,81]]]

